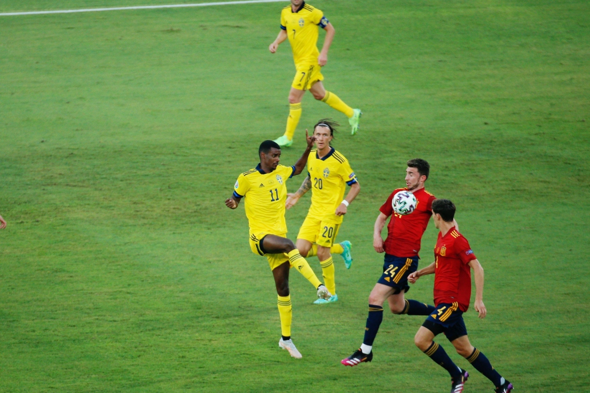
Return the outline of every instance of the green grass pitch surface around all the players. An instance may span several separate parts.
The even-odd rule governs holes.
[[[324,85],[364,114],[351,137],[307,95],[282,162],[334,117],[362,191],[340,231],[355,261],[335,256],[339,302],[312,305],[291,272],[301,360],[277,348],[276,292],[243,207],[224,206],[284,130],[294,67],[289,44],[267,47],[287,2],[0,19],[0,391],[447,391],[412,342],[422,317],[386,313],[373,362],[339,364],[381,272],[377,209],[414,157],[486,269],[489,315],[466,313],[471,341],[519,392],[590,389],[588,2],[311,4],[336,27]],[[287,213],[293,239],[308,205]],[[431,224],[421,266],[435,236]],[[432,276],[408,296],[431,302]],[[466,392],[493,389],[438,342],[472,375]]]

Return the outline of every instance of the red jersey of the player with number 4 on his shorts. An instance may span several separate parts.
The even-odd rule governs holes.
[[[434,305],[459,303],[466,312],[471,299],[471,269],[468,263],[476,259],[467,239],[452,227],[447,235],[438,232],[434,247]]]

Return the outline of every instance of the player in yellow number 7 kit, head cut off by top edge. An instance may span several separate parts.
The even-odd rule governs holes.
[[[326,30],[322,52],[317,50],[318,27]],[[291,0],[291,4],[281,11],[281,31],[268,49],[271,53],[276,52],[278,45],[289,38],[297,72],[289,93],[287,129],[282,137],[275,140],[280,146],[289,147],[293,144],[293,134],[301,117],[301,98],[306,90],[311,91],[316,100],[322,100],[345,114],[353,135],[359,129],[360,109],[349,107],[336,94],[326,91],[322,84],[324,77],[320,67],[328,61],[328,49],[335,32],[323,12],[303,0]]]

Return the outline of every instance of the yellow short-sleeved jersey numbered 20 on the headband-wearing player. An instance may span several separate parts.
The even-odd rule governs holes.
[[[312,206],[307,216],[340,224],[343,216],[336,216],[336,208],[344,199],[346,184],[356,183],[356,174],[348,160],[333,147],[330,153],[319,158],[313,149],[307,158],[307,172],[312,180]]]

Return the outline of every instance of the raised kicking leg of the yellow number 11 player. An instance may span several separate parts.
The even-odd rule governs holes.
[[[329,299],[332,294],[327,290],[326,286],[317,279],[316,273],[307,263],[304,257],[301,256],[299,250],[296,249],[293,242],[286,237],[267,235],[260,240],[260,245],[263,247],[264,253],[286,253],[289,256],[289,263],[296,267],[297,271],[301,273],[312,285],[317,289],[317,296],[323,299]]]

